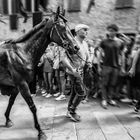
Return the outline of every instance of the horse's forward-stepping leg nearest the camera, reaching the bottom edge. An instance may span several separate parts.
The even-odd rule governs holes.
[[[27,82],[25,82],[25,81],[21,82],[21,84],[19,85],[19,91],[20,91],[22,97],[24,98],[24,100],[26,101],[26,103],[28,104],[28,106],[33,114],[35,128],[38,130],[38,140],[46,140],[47,137],[44,134],[44,132],[41,130],[40,124],[38,123],[38,118],[37,118],[37,114],[36,114],[37,109],[33,102],[32,97],[31,97],[31,93],[30,93]]]

